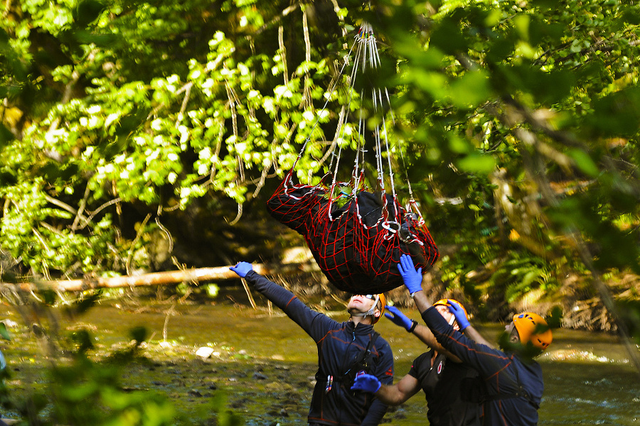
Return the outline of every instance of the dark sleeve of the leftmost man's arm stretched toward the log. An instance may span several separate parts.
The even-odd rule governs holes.
[[[326,315],[306,306],[286,288],[267,280],[267,278],[255,271],[249,271],[245,279],[262,295],[271,300],[274,305],[279,307],[282,312],[287,314],[289,318],[294,320],[296,324],[302,327],[306,334],[309,334],[316,343],[324,337],[327,328],[338,324],[335,320],[331,320]]]

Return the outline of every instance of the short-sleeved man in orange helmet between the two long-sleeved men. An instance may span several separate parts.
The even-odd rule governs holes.
[[[456,330],[465,327],[469,321],[457,321],[449,311],[449,306],[456,303],[460,309],[464,307],[455,300],[442,299],[435,302],[440,315]],[[374,376],[362,375],[356,378],[352,388],[373,392],[383,403],[400,405],[415,395],[420,388],[427,399],[427,420],[431,426],[479,426],[480,405],[477,402],[465,401],[460,393],[460,386],[465,379],[476,378],[478,373],[467,364],[462,364],[457,356],[449,353],[435,339],[429,328],[410,320],[398,308],[388,306],[385,317],[394,324],[415,334],[430,347],[430,351],[418,356],[407,373],[395,385],[382,385]],[[466,312],[466,310],[464,310]]]

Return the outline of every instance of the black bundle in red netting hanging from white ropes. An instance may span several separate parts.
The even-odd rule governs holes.
[[[350,79],[352,92],[357,70],[380,64],[375,37],[368,24],[361,26],[354,46],[356,55]],[[385,102],[389,103],[386,89],[370,90],[374,107],[380,108]],[[340,147],[334,173],[327,173],[316,185],[293,181],[294,169],[311,138],[309,136],[292,169],[267,202],[267,209],[272,217],[304,236],[319,268],[336,288],[349,293],[384,293],[403,285],[397,267],[402,254],[409,254],[416,267],[424,272],[437,261],[439,253],[408,182],[410,201],[407,209],[398,202],[390,153],[387,158],[391,193],[385,190],[382,154],[383,149],[387,152],[389,149],[387,117],[383,116],[373,131],[379,186],[375,192],[364,183],[361,162],[366,152],[366,126],[362,114],[356,119],[360,129],[359,149],[351,180],[336,182]],[[340,134],[343,132],[338,129],[336,138]],[[351,188],[351,191],[345,192],[345,188]]]

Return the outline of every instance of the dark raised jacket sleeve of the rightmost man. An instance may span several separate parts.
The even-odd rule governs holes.
[[[444,349],[475,368],[485,378],[501,371],[511,362],[511,356],[503,351],[474,342],[455,330],[434,307],[430,307],[422,314],[422,320],[425,320],[425,324]]]

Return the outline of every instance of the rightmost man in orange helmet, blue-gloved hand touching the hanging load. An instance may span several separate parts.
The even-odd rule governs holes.
[[[444,320],[422,291],[422,271],[415,270],[410,256],[400,258],[398,270],[439,344],[478,371],[481,380],[469,381],[463,391],[464,398],[483,404],[482,424],[538,425],[544,386],[542,368],[533,358],[553,339],[547,322],[532,312],[515,315],[501,338],[503,350],[494,349],[474,342]],[[459,322],[466,318],[458,306],[452,304],[449,310]],[[467,327],[461,326],[461,331]]]

